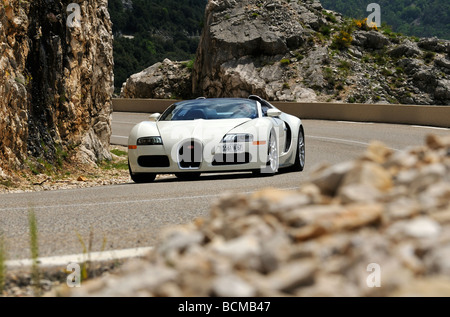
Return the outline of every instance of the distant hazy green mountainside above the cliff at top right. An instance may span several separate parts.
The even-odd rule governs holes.
[[[449,0],[321,0],[324,8],[362,19],[369,3],[381,6],[381,21],[397,33],[450,40]]]

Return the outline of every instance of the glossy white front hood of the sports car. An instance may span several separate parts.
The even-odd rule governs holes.
[[[197,139],[206,144],[219,143],[225,134],[248,121],[251,119],[158,121],[157,127],[164,144],[175,145],[186,139]]]

